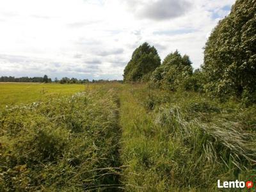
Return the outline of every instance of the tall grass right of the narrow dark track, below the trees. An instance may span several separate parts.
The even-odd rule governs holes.
[[[237,118],[243,109],[255,124],[252,109],[202,96],[143,87],[124,92],[122,179],[133,184],[127,191],[218,191],[218,179],[256,174],[255,131]]]

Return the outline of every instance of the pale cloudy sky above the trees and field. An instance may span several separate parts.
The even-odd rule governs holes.
[[[143,42],[193,67],[234,0],[1,0],[0,76],[122,79]]]

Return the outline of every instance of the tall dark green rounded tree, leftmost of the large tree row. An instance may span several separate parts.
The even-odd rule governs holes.
[[[132,58],[124,69],[124,82],[148,81],[160,64],[156,48],[144,43],[132,53]]]

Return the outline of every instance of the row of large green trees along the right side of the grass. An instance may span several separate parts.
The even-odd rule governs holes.
[[[193,71],[188,55],[171,52],[161,63],[156,48],[140,45],[124,69],[124,83],[204,92],[221,100],[256,102],[256,1],[238,0],[212,30],[204,63]]]

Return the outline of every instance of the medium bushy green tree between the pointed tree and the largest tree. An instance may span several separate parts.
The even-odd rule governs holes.
[[[164,58],[162,65],[156,68],[150,78],[151,84],[168,90],[189,90],[189,77],[193,74],[191,61],[186,54],[181,56],[178,51]]]

